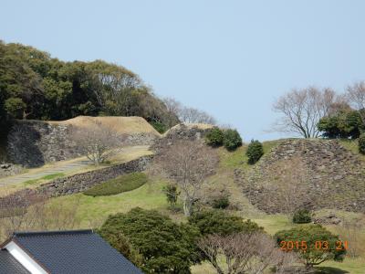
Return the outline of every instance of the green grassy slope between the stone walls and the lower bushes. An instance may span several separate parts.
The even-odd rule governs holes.
[[[277,142],[265,142],[264,149],[267,153]],[[287,216],[274,215],[269,216],[263,212],[258,211],[253,205],[250,205],[248,200],[242,195],[240,187],[233,181],[233,170],[235,168],[248,169],[250,165],[246,163],[245,150],[246,146],[243,146],[235,152],[228,153],[224,149],[218,149],[218,153],[221,156],[221,165],[217,174],[210,178],[210,184],[216,187],[224,186],[231,193],[231,201],[239,205],[239,210],[232,212],[243,216],[245,218],[251,218],[255,220],[260,226],[265,227],[266,231],[273,235],[276,231],[281,229],[287,229],[293,226]],[[165,214],[169,214],[172,219],[176,221],[184,221],[183,215],[172,214],[168,211],[168,204],[165,196],[162,193],[162,187],[166,184],[161,179],[152,179],[150,183],[142,185],[140,188],[133,191],[122,193],[120,195],[90,197],[87,195],[68,195],[57,197],[50,200],[53,205],[75,205],[78,203],[78,227],[99,227],[101,223],[110,214],[117,212],[127,212],[130,208],[140,206],[146,209],[157,209]],[[69,203],[64,203],[69,202]],[[352,216],[352,214],[344,212],[336,212],[339,216]],[[335,227],[328,227],[334,233],[337,233]],[[364,231],[365,238],[365,231]],[[364,241],[365,245],[365,241]],[[323,263],[321,266],[332,267],[334,269],[328,270],[327,273],[354,273],[363,274],[365,269],[365,254],[361,258],[350,259],[346,258],[343,263],[336,263],[333,261]],[[339,271],[339,269],[349,272]],[[194,266],[192,268],[193,273],[215,273],[214,269],[208,264]]]

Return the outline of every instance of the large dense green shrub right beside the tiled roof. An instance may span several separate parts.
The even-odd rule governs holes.
[[[195,245],[198,229],[175,224],[156,210],[133,208],[126,214],[109,216],[99,233],[120,252],[124,245],[115,236],[122,234],[141,254],[145,273],[190,273],[190,267],[200,259]]]

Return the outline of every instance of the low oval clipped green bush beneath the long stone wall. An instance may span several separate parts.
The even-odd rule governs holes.
[[[139,188],[141,185],[146,184],[147,181],[147,175],[143,173],[124,174],[115,179],[111,179],[91,187],[84,192],[84,195],[94,197],[102,195],[117,195],[122,192]]]

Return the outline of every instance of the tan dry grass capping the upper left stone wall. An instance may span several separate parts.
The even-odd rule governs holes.
[[[50,124],[66,124],[77,127],[91,127],[95,125],[95,121],[115,129],[120,134],[136,134],[136,133],[151,133],[156,136],[161,136],[151,124],[145,121],[141,117],[121,117],[121,116],[108,116],[108,117],[90,117],[90,116],[78,116],[66,121],[47,121]]]

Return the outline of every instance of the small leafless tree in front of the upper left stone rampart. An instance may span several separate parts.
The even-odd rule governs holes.
[[[76,142],[78,150],[96,165],[114,155],[116,147],[121,142],[121,136],[100,121],[94,121],[89,127],[73,127],[71,139]]]

